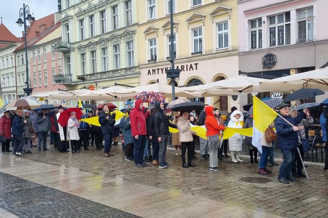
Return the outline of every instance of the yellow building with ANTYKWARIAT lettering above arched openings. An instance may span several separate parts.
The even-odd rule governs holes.
[[[170,0],[138,0],[140,85],[170,84]],[[173,0],[175,67],[178,86],[206,84],[238,75],[236,0]],[[204,99],[200,99],[204,101]],[[239,99],[220,96],[205,103],[226,111]]]

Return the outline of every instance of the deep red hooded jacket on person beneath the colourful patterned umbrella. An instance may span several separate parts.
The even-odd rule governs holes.
[[[149,112],[144,112],[144,108],[140,109],[141,104],[141,100],[135,101],[134,108],[130,112],[131,133],[133,137],[147,135],[146,119],[149,116]]]

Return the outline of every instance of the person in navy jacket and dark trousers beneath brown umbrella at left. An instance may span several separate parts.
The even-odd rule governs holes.
[[[12,156],[23,156],[21,153],[25,140],[23,138],[24,125],[27,123],[26,120],[22,120],[23,110],[16,110],[16,116],[12,121],[11,134],[13,137],[14,148],[12,151]]]

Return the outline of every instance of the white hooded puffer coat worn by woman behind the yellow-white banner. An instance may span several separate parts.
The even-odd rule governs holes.
[[[236,119],[235,115],[240,114],[240,118]],[[228,127],[236,128],[236,129],[243,129],[243,122],[244,115],[241,111],[235,110],[230,115],[230,121],[228,123]],[[231,151],[242,151],[243,149],[243,136],[241,134],[234,134],[232,137],[229,138],[229,150]]]

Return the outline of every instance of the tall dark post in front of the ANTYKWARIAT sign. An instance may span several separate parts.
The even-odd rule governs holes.
[[[170,26],[171,26],[171,35],[170,35],[170,43],[171,43],[171,70],[166,70],[166,79],[171,79],[172,85],[172,101],[175,99],[175,79],[179,80],[180,70],[174,69],[174,34],[173,34],[173,1],[170,0]]]

